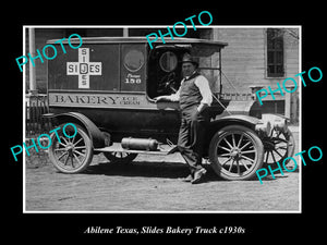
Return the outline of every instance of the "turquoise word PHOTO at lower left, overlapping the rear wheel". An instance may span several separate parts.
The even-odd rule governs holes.
[[[65,132],[65,128],[66,128],[66,126],[69,126],[69,125],[71,125],[71,126],[74,128],[74,134],[73,134],[73,135],[68,135],[66,132]],[[58,126],[57,128],[55,128],[55,130],[52,130],[52,131],[49,131],[49,133],[50,133],[50,134],[51,134],[51,133],[55,133],[56,136],[57,136],[57,138],[58,138],[58,142],[61,143],[60,137],[59,137],[58,132],[57,132],[57,131],[59,131],[59,130],[60,130],[60,126]],[[75,137],[76,134],[77,134],[77,127],[76,127],[73,123],[66,123],[66,124],[64,124],[64,126],[62,127],[62,133],[63,133],[63,135],[64,135],[65,137],[68,137],[68,138],[73,138],[73,137]],[[43,137],[47,137],[47,138],[48,138],[48,142],[49,142],[49,143],[48,143],[48,146],[44,146],[44,145],[40,143],[40,142],[43,142],[43,139],[41,139]],[[29,155],[29,151],[28,151],[28,149],[31,149],[31,148],[35,148],[35,151],[38,152],[38,148],[37,148],[37,145],[35,144],[34,138],[31,138],[31,140],[32,140],[32,144],[31,144],[29,146],[26,146],[26,144],[23,143],[23,146],[24,146],[25,151],[26,151],[26,154],[27,154],[28,157],[31,156],[31,155]],[[50,137],[50,135],[48,135],[48,134],[41,134],[41,135],[39,135],[39,136],[37,137],[37,144],[38,144],[38,146],[39,146],[40,148],[43,148],[43,149],[48,149],[48,148],[51,146],[51,143],[52,143],[52,142],[51,142],[51,137]],[[19,154],[22,154],[22,152],[23,152],[23,147],[22,147],[21,145],[16,145],[16,146],[11,147],[10,149],[11,149],[11,152],[12,152],[12,155],[13,155],[15,161],[17,161],[16,156],[17,156]],[[15,150],[15,149],[17,149],[17,150]]]

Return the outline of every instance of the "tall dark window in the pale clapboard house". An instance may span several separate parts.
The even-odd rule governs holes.
[[[267,75],[280,77],[283,71],[283,35],[278,28],[267,29]]]

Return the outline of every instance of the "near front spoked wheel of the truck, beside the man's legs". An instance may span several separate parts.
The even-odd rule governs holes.
[[[225,180],[241,181],[255,176],[263,166],[264,146],[252,130],[231,125],[215,134],[209,159],[215,172]]]

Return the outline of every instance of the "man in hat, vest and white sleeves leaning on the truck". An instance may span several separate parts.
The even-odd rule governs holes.
[[[206,108],[213,102],[209,82],[197,72],[198,62],[185,53],[182,59],[183,79],[175,94],[159,96],[156,101],[179,101],[181,126],[178,148],[190,167],[190,175],[183,181],[197,184],[203,181],[206,170],[202,166],[205,124],[208,122]]]

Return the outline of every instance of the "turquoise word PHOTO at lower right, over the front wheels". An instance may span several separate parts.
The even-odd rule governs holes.
[[[313,149],[317,149],[317,151],[319,152],[319,157],[318,157],[318,158],[313,158],[313,157],[312,157],[312,152],[311,152],[311,151],[312,151]],[[305,160],[304,160],[304,158],[303,158],[303,156],[302,156],[302,154],[304,154],[304,152],[305,152],[305,150],[302,150],[301,152],[298,152],[298,154],[295,154],[294,156],[300,156],[301,159],[302,159],[303,164],[306,166],[306,162],[305,162]],[[308,158],[310,158],[312,161],[319,161],[319,160],[323,158],[323,150],[322,150],[318,146],[313,146],[313,147],[311,147],[311,148],[307,150],[307,156],[308,156]],[[292,161],[295,163],[295,164],[294,164],[294,168],[291,169],[291,170],[289,170],[289,169],[286,168],[286,166],[284,166],[286,162],[288,161],[288,159],[292,160]],[[282,172],[282,169],[281,169],[279,162],[276,162],[276,163],[277,163],[278,168],[277,168],[277,169],[274,169],[274,170],[271,169],[270,166],[268,166],[268,169],[269,169],[269,171],[270,171],[270,174],[271,174],[272,179],[276,179],[275,175],[274,175],[274,173],[277,172],[277,171],[279,171],[279,172],[281,173],[281,175],[283,175],[283,172]],[[298,168],[298,163],[296,163],[296,160],[295,160],[294,158],[288,157],[288,158],[283,159],[283,161],[282,161],[282,167],[283,167],[283,169],[284,169],[287,172],[293,172],[293,171]],[[259,172],[264,172],[264,174],[261,175]],[[262,179],[265,177],[265,176],[267,176],[267,174],[268,174],[268,170],[265,169],[265,168],[258,169],[258,170],[256,171],[256,175],[257,175],[257,177],[258,177],[261,184],[263,184]]]

